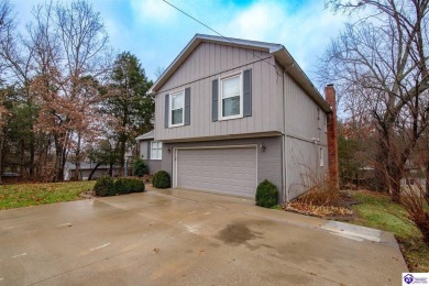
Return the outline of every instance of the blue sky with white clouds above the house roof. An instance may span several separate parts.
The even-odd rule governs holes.
[[[42,0],[11,0],[19,24]],[[222,35],[283,44],[314,78],[318,57],[346,21],[324,9],[323,0],[210,1],[168,0]],[[210,30],[162,0],[89,0],[99,11],[118,52],[136,55],[150,79],[167,67],[196,33]]]

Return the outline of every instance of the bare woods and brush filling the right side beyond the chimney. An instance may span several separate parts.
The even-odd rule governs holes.
[[[404,205],[429,245],[429,0],[327,6],[356,19],[332,40],[319,70],[349,114],[340,124],[342,175],[374,168],[373,188]]]

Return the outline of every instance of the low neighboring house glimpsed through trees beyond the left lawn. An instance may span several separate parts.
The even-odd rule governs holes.
[[[89,177],[89,174],[91,174],[92,169],[96,167],[97,163],[91,163],[91,162],[84,162],[80,163],[79,167],[79,177],[82,180],[87,180]],[[72,163],[67,163],[65,168],[64,168],[64,179],[65,180],[70,180],[75,177],[75,170],[76,170],[76,165]],[[112,176],[118,177],[120,174],[120,169],[118,166],[113,166],[112,169]],[[109,175],[109,166],[108,165],[100,165],[96,169],[96,172],[92,175],[91,179],[98,179],[102,176],[108,176]]]

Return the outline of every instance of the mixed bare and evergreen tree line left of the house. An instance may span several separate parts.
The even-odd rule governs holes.
[[[150,131],[154,101],[139,59],[117,56],[87,1],[33,8],[26,29],[0,0],[0,174],[64,179],[66,162],[124,166]]]

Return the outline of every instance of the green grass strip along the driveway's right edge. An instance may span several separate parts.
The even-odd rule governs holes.
[[[351,223],[385,230],[395,234],[411,272],[429,272],[429,246],[421,232],[408,219],[402,205],[387,195],[370,191],[351,191],[361,205],[353,206],[358,219]]]

